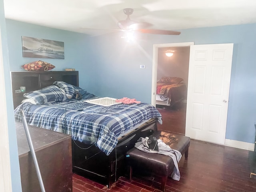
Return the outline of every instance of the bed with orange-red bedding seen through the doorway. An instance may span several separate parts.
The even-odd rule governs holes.
[[[187,87],[182,78],[162,77],[156,85],[156,104],[173,107],[186,100]]]

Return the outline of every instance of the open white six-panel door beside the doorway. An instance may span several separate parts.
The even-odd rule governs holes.
[[[190,46],[186,136],[225,143],[233,44]]]

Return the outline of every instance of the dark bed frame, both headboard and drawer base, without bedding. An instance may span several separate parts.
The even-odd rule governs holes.
[[[24,92],[15,92],[20,86],[26,86],[26,92],[52,85],[56,80],[79,86],[78,71],[11,72],[11,76],[14,108],[24,99]],[[73,172],[110,188],[111,184],[126,172],[126,152],[134,147],[140,137],[153,134],[157,130],[156,122],[157,120],[152,118],[119,138],[116,148],[108,156],[94,145],[72,140]]]

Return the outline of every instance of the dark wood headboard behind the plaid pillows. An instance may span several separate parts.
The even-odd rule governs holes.
[[[24,93],[50,86],[54,81],[79,86],[78,71],[12,71],[11,77],[14,108],[25,99]],[[15,90],[19,90],[20,86],[25,86],[26,91],[16,93]]]

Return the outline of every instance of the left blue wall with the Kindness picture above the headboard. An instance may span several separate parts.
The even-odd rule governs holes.
[[[9,48],[9,60],[11,71],[24,71],[22,65],[43,60],[55,66],[55,71],[62,71],[65,68],[75,68],[79,71],[80,87],[86,88],[88,92],[94,92],[94,60],[91,57],[91,40],[88,35],[59,30],[18,22],[6,19],[6,29]],[[27,58],[22,56],[22,36],[42,38],[64,42],[65,59],[49,58]]]

